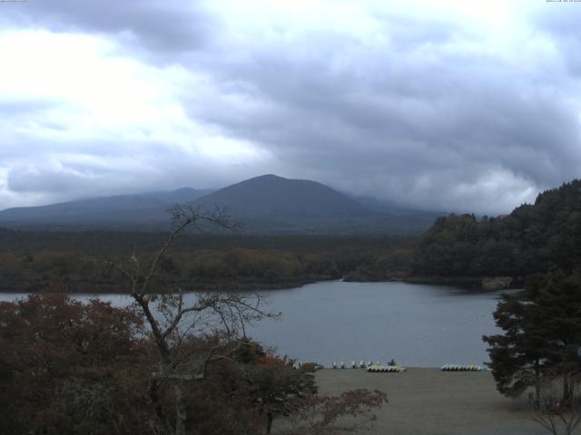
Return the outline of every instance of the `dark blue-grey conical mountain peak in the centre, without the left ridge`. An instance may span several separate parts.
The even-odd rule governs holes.
[[[251,233],[369,234],[419,233],[438,216],[416,210],[389,213],[306,179],[262,175],[217,190],[195,201],[241,218]]]

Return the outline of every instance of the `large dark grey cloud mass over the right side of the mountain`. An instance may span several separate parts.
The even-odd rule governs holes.
[[[231,100],[218,95],[192,104],[192,117],[261,143],[296,170],[415,206],[499,210],[522,192],[498,201],[486,191],[498,173],[513,179],[507,189],[520,179],[517,189],[533,190],[578,175],[578,106],[550,67],[530,72],[518,59],[448,52],[458,34],[469,37],[453,27],[385,28],[389,45],[308,34],[276,53],[254,47],[251,61],[213,65],[223,88],[271,110],[232,117]],[[457,184],[478,183],[478,191],[465,191],[484,198],[453,193]]]

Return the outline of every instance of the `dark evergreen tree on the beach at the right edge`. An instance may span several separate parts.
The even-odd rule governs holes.
[[[554,269],[527,280],[522,292],[505,295],[494,313],[504,333],[484,336],[497,390],[509,397],[535,387],[542,378],[563,380],[563,399],[580,371],[581,275]]]

